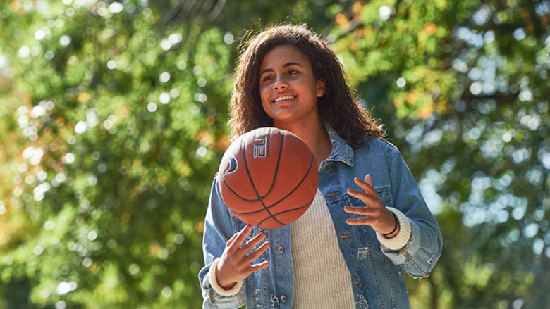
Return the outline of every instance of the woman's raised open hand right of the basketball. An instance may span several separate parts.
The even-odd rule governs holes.
[[[393,231],[397,225],[393,233],[385,235],[387,238],[396,236],[399,232],[399,224],[396,222],[397,220],[396,217],[393,216],[393,213],[384,206],[377,191],[374,190],[370,174],[365,176],[365,180],[361,180],[357,177],[353,180],[363,189],[363,191],[348,188],[348,194],[363,201],[365,207],[344,206],[344,211],[346,213],[365,215],[365,217],[348,219],[346,223],[348,223],[348,225],[370,225],[372,229],[379,234],[387,234]]]

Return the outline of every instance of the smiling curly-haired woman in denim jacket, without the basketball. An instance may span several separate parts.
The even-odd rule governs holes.
[[[297,134],[319,190],[298,220],[238,220],[214,180],[199,274],[203,308],[408,308],[403,270],[426,277],[441,233],[401,154],[353,98],[328,44],[305,25],[270,27],[240,55],[233,139],[258,127]]]

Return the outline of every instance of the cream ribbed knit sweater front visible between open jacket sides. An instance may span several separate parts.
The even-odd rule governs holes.
[[[291,223],[293,309],[353,309],[350,272],[329,209],[317,190],[309,209]]]

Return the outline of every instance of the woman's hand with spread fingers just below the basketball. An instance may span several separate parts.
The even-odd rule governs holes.
[[[252,226],[246,225],[244,229],[234,234],[226,243],[224,253],[221,254],[218,267],[216,267],[216,279],[218,284],[224,289],[231,289],[236,282],[245,279],[252,272],[263,270],[269,266],[269,261],[267,260],[259,264],[250,265],[253,260],[257,259],[269,248],[269,242],[266,241],[255,251],[247,254],[266,236],[264,232],[261,232],[243,245],[243,241],[245,241],[246,236],[250,234],[251,230]]]

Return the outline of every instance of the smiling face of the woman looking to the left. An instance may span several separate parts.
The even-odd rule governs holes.
[[[259,95],[275,127],[307,125],[319,121],[317,98],[324,83],[313,75],[312,65],[300,49],[279,45],[259,65]]]

